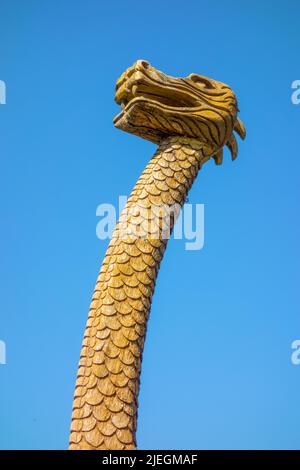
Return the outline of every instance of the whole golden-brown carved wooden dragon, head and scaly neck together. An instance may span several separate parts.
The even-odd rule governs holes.
[[[161,231],[166,207],[184,204],[203,163],[211,157],[222,163],[224,145],[236,158],[233,131],[245,137],[232,90],[201,75],[173,78],[139,60],[117,81],[115,99],[122,106],[115,126],[155,142],[158,149],[128,199],[96,282],[75,388],[70,449],[136,448],[141,361],[167,244]],[[173,223],[171,218],[171,229]],[[144,236],[136,236],[137,229]]]

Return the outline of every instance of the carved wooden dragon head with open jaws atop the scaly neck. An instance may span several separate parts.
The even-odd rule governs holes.
[[[117,80],[115,100],[122,106],[117,128],[156,144],[172,135],[199,139],[215,152],[217,164],[224,145],[233,160],[237,156],[233,131],[242,139],[246,135],[233,91],[195,73],[174,78],[138,60]]]

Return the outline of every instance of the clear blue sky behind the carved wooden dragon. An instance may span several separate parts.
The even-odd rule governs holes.
[[[116,130],[136,59],[236,92],[247,140],[206,164],[205,246],[171,240],[155,292],[140,448],[300,447],[297,0],[1,0],[0,448],[66,448],[89,303],[107,242],[95,211],[155,146]]]

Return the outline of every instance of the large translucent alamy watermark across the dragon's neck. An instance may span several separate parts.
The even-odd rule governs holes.
[[[204,246],[204,204],[150,205],[148,200],[126,205],[127,197],[119,197],[119,207],[113,204],[99,204],[96,215],[100,221],[96,235],[100,240],[110,239],[119,214],[115,234],[123,239],[168,240],[172,234],[175,240],[186,240],[186,250],[201,250]]]

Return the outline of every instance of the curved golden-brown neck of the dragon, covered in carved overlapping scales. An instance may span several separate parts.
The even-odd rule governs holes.
[[[147,320],[167,244],[162,221],[169,206],[184,204],[198,170],[212,153],[192,138],[165,139],[128,199],[90,307],[74,395],[70,449],[136,448]],[[168,220],[172,229],[174,219]]]

